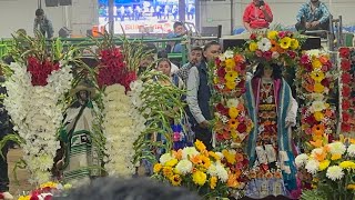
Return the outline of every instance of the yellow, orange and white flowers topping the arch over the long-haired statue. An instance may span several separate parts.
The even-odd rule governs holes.
[[[268,30],[251,34],[245,56],[252,62],[294,66],[300,49],[301,40],[295,33]]]

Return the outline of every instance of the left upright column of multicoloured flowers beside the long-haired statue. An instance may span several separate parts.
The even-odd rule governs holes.
[[[216,140],[240,146],[253,127],[241,98],[245,92],[245,58],[231,50],[225,51],[216,59],[212,77]]]

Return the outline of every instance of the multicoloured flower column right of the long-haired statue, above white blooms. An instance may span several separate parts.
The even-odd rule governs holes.
[[[301,106],[301,131],[312,147],[327,143],[328,134],[335,130],[335,108],[328,103],[335,78],[329,56],[320,51],[307,51],[301,57],[296,72]],[[311,148],[312,149],[312,148]]]

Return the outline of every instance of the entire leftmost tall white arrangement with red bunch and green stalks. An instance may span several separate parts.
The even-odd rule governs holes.
[[[16,62],[6,69],[8,97],[4,106],[18,132],[8,139],[20,142],[23,157],[19,163],[29,171],[29,181],[40,184],[51,179],[50,169],[59,149],[57,133],[65,108],[64,94],[73,79],[68,61],[74,59],[74,49],[62,53],[60,42],[55,41],[52,54],[48,54],[41,37],[23,37],[22,40],[31,44],[29,50],[18,52],[20,56],[13,53]]]

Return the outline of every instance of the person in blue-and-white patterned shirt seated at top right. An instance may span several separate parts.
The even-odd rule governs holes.
[[[307,30],[328,30],[329,10],[324,2],[320,0],[310,0],[302,4],[297,13],[296,29],[298,31]]]

